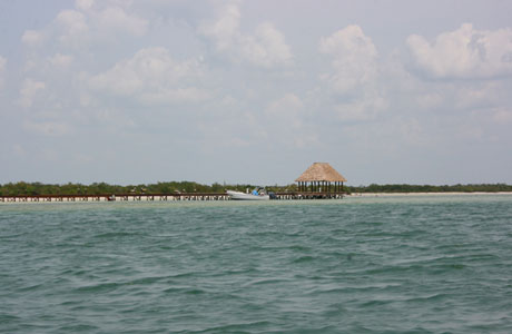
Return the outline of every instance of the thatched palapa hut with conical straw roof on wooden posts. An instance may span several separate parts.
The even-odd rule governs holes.
[[[295,181],[298,191],[341,193],[346,178],[327,163],[314,163]]]

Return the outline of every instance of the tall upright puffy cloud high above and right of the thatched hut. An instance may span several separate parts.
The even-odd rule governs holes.
[[[347,94],[361,86],[374,84],[377,77],[377,50],[358,26],[348,26],[322,38],[319,50],[334,58],[334,72],[323,77],[337,92]]]

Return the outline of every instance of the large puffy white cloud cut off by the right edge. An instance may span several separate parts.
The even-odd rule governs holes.
[[[407,46],[416,65],[434,78],[491,78],[512,75],[512,30],[476,30],[462,24],[434,41],[412,35]]]

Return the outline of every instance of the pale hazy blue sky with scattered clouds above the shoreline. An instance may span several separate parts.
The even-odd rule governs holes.
[[[512,184],[511,12],[3,0],[0,184]]]

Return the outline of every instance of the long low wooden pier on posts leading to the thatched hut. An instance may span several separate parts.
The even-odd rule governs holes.
[[[276,193],[275,200],[341,199],[344,193]],[[0,196],[0,203],[230,200],[225,193]]]

